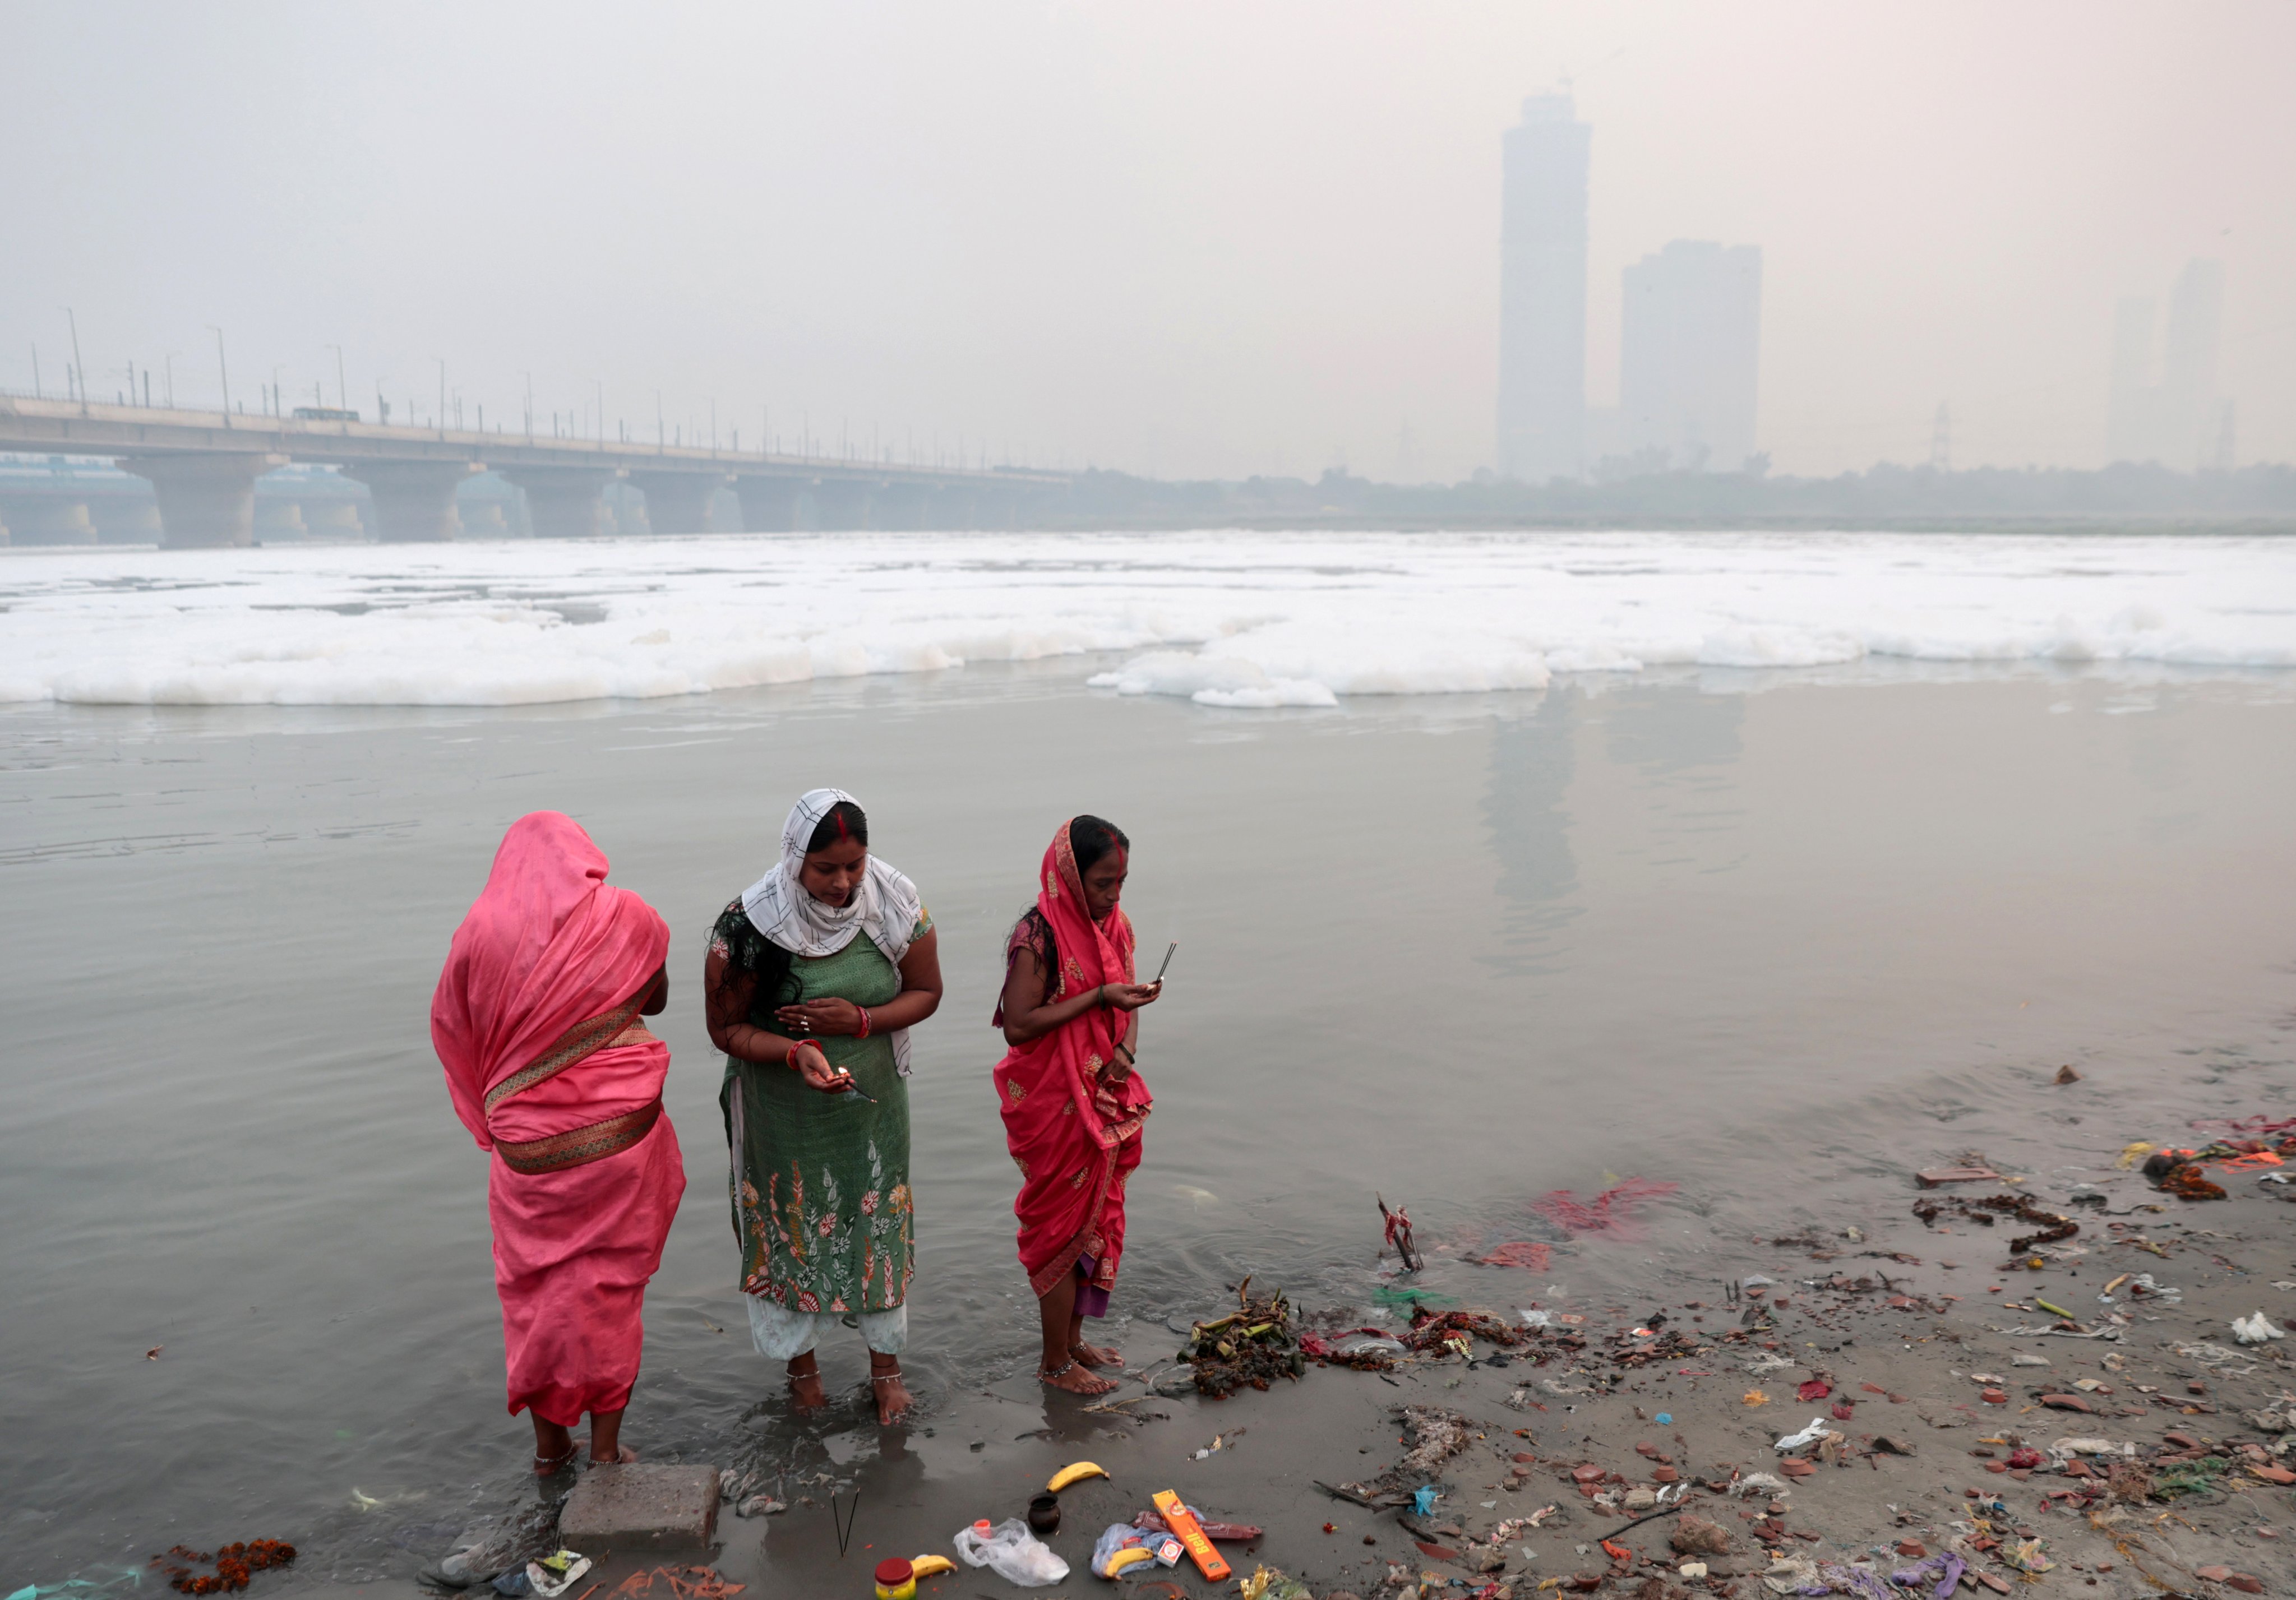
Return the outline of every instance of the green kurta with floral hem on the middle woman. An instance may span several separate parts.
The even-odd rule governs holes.
[[[928,927],[930,914],[916,934]],[[900,969],[859,934],[836,955],[792,960],[783,992],[751,1001],[751,1024],[778,1033],[776,1005],[840,999],[875,1008],[898,994]],[[909,1297],[916,1269],[909,1081],[882,1033],[820,1044],[877,1104],[824,1095],[783,1065],[726,1058],[719,1106],[735,1155],[742,1288],[790,1311],[891,1311]]]

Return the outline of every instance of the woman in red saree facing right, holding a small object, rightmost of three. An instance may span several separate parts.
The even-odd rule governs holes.
[[[1084,1318],[1109,1313],[1125,1253],[1125,1180],[1141,1164],[1148,1086],[1132,1070],[1139,1008],[1159,985],[1132,982],[1123,914],[1132,840],[1100,817],[1061,824],[1038,872],[1035,904],[1006,943],[996,1008],[1013,1051],[996,1063],[1006,1148],[1019,1166],[1019,1265],[1045,1334],[1038,1366],[1054,1389],[1116,1384],[1077,1366],[1123,1366],[1084,1343]]]

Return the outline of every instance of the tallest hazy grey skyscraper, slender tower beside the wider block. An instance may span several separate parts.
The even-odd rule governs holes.
[[[1587,466],[1587,142],[1568,94],[1534,94],[1502,145],[1499,473],[1525,482]]]

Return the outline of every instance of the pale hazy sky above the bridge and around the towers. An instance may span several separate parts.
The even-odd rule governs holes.
[[[1784,471],[2103,457],[2112,305],[2227,262],[2239,455],[2296,459],[2296,5],[0,0],[0,388],[78,312],[487,422],[962,432],[1159,475],[1492,459],[1499,131],[1593,124],[1619,269],[1763,250]],[[113,376],[106,376],[110,372]],[[289,393],[289,399],[296,399]],[[471,415],[475,420],[475,415]],[[583,432],[590,422],[583,420]]]

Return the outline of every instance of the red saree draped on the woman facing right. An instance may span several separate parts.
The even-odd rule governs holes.
[[[1132,921],[1123,907],[1109,911],[1107,923],[1095,923],[1084,909],[1084,881],[1065,822],[1045,852],[1035,907],[1052,925],[1061,955],[1047,1003],[1102,982],[1132,982]],[[1015,1044],[992,1074],[1006,1148],[1019,1166],[1019,1198],[1013,1201],[1019,1265],[1038,1297],[1079,1260],[1091,1263],[1086,1290],[1104,1297],[1116,1288],[1125,1253],[1125,1182],[1141,1164],[1141,1123],[1150,1102],[1139,1072],[1120,1086],[1109,1086],[1102,1072],[1116,1061],[1116,1040],[1130,1024],[1132,1012],[1088,1010],[1056,1033]]]

